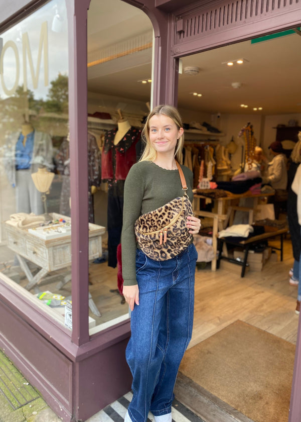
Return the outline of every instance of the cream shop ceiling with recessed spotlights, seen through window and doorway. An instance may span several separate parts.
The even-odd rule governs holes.
[[[148,17],[120,0],[92,0],[88,14],[88,55],[138,36],[152,29]],[[301,113],[301,36],[285,37],[251,44],[244,41],[215,50],[187,56],[186,66],[198,66],[200,72],[179,75],[180,108],[207,113],[263,115]],[[223,62],[244,58],[242,65],[228,67]],[[138,80],[150,78],[152,49],[110,60],[88,69],[88,90],[147,102],[150,84]],[[232,82],[240,82],[233,88]],[[191,92],[201,93],[195,97]],[[242,109],[240,104],[247,104]],[[253,107],[262,107],[254,112]]]

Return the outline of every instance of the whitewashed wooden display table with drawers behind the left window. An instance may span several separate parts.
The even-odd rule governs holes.
[[[63,219],[71,223],[70,217],[56,213],[50,213],[50,216],[53,220]],[[29,283],[25,287],[27,290],[31,290],[37,286],[47,273],[71,267],[71,230],[67,233],[53,232],[53,234],[48,236],[48,239],[44,239],[43,233],[33,234],[34,230],[32,228],[21,229],[11,221],[5,222],[5,228],[7,231],[8,247],[16,253],[20,266],[29,280]],[[42,230],[40,229],[39,232],[42,232]],[[104,227],[89,223],[89,260],[96,259],[102,255],[102,235],[104,232]],[[41,267],[35,276],[31,273],[26,260]],[[69,281],[70,278],[68,275],[65,282]],[[92,302],[89,300],[90,304],[93,307]],[[93,309],[91,310],[97,314],[96,306]]]

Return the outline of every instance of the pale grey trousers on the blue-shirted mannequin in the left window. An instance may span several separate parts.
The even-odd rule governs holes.
[[[44,214],[41,192],[31,177],[31,169],[16,171],[16,212]]]

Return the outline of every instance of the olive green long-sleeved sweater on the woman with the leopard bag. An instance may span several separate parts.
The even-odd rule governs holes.
[[[187,194],[192,201],[193,173],[188,167],[181,167],[188,186]],[[139,161],[130,168],[124,184],[121,234],[122,277],[125,286],[137,284],[135,221],[142,214],[154,211],[182,195],[178,170],[166,170],[151,161]]]

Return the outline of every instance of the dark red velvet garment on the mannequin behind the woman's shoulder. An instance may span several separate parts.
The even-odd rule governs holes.
[[[141,130],[130,128],[121,141],[114,145],[117,132],[112,129],[106,133],[101,153],[101,179],[125,180],[131,166],[136,162],[136,143]],[[115,171],[114,171],[115,170]]]

